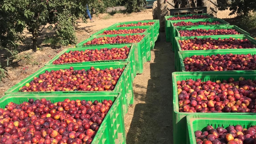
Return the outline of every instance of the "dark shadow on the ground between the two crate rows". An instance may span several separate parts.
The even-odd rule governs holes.
[[[147,87],[134,84],[134,115],[127,133],[127,144],[172,144],[172,72],[174,53],[165,33],[154,48]],[[144,69],[145,72],[145,69]],[[140,90],[146,89],[146,95]],[[137,103],[139,101],[141,103]],[[145,103],[142,103],[145,102]]]

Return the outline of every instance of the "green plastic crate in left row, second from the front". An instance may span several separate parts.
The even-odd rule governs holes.
[[[93,93],[102,93],[102,92],[121,92],[122,93],[122,100],[124,99],[126,103],[126,107],[123,107],[124,113],[127,113],[128,105],[133,104],[134,95],[133,95],[133,83],[131,78],[131,73],[129,71],[130,69],[130,63],[129,62],[109,62],[109,63],[95,63],[90,65],[58,65],[58,66],[45,66],[43,68],[40,68],[37,72],[31,74],[24,80],[20,81],[18,84],[14,85],[7,91],[5,91],[5,94],[8,93],[57,93],[57,94],[63,94],[63,93],[69,93],[69,94],[83,94],[83,93],[91,93],[91,91],[55,91],[55,92],[18,92],[20,87],[24,86],[26,83],[29,83],[31,80],[33,80],[34,77],[38,77],[39,74],[44,73],[46,70],[59,70],[64,68],[70,68],[72,66],[74,70],[81,70],[84,68],[85,70],[90,69],[91,66],[94,66],[95,68],[105,69],[109,67],[113,68],[122,68],[125,67],[123,73],[121,74],[119,80],[116,83],[116,86],[113,91],[93,91]]]

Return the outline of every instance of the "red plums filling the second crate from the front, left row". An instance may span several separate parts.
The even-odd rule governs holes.
[[[89,70],[60,69],[57,71],[45,71],[34,77],[30,83],[20,88],[20,92],[43,91],[112,91],[119,80],[123,68],[91,67]]]

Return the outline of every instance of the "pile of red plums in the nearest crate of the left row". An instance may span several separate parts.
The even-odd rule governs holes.
[[[45,98],[10,102],[0,109],[1,144],[90,144],[112,105],[69,100],[51,103]]]

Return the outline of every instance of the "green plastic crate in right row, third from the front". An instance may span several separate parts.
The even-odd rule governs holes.
[[[184,65],[184,62],[183,60],[186,58],[186,57],[191,57],[193,55],[216,55],[216,54],[256,54],[256,48],[250,50],[250,49],[246,49],[246,50],[241,50],[241,49],[238,49],[236,51],[234,50],[231,50],[231,49],[227,49],[226,51],[222,51],[222,50],[214,50],[214,51],[197,51],[197,52],[193,52],[193,53],[189,53],[189,52],[185,52],[185,51],[179,51],[178,54],[179,54],[179,61],[177,61],[178,64],[178,67],[179,69],[177,69],[177,71],[180,71],[180,72],[185,72],[185,65]],[[204,72],[209,72],[209,71],[204,71]],[[217,71],[219,72],[219,71]],[[230,72],[230,71],[229,71]]]

